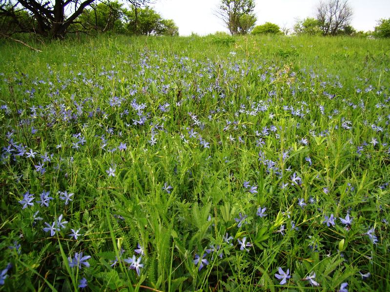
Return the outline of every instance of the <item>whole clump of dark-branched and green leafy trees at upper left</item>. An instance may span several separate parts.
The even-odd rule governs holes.
[[[173,20],[163,19],[146,5],[153,0],[0,0],[0,30],[10,35],[33,32],[62,38],[73,31],[115,31],[176,35]]]

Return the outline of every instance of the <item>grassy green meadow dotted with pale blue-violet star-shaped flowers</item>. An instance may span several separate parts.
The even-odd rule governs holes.
[[[0,43],[0,291],[387,291],[390,41]]]

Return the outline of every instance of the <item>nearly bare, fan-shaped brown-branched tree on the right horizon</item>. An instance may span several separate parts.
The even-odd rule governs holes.
[[[335,36],[350,24],[353,11],[348,0],[321,0],[317,7],[317,20],[324,35]]]

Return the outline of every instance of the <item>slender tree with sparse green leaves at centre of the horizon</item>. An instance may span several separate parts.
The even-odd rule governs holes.
[[[221,0],[216,16],[224,21],[231,35],[244,35],[255,25],[254,8],[254,0]]]

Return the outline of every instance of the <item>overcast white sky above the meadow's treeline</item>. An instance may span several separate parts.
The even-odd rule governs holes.
[[[214,15],[220,0],[155,0],[150,5],[165,19],[173,19],[182,36],[192,32],[208,35],[226,31],[223,22]],[[292,28],[295,19],[315,16],[319,0],[255,0],[256,24],[270,21],[280,27]],[[390,0],[349,0],[354,15],[352,26],[357,30],[373,30],[376,20],[390,18]]]

